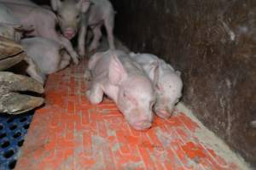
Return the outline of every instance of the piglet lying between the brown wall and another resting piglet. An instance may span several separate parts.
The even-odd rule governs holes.
[[[172,116],[173,108],[182,96],[183,82],[179,71],[174,71],[171,65],[166,64],[163,59],[159,59],[153,54],[133,54],[131,58],[139,65],[142,65],[143,70],[148,73],[151,80],[155,80],[156,104],[154,112],[162,118]],[[158,61],[159,69],[152,72],[151,63]]]

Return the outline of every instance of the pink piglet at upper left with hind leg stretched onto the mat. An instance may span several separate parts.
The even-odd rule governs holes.
[[[4,1],[4,0],[2,0]],[[13,0],[14,1],[14,0]],[[20,2],[17,0],[17,2]],[[55,31],[57,23],[55,14],[46,8],[41,8],[35,4],[1,3],[7,6],[15,15],[20,23],[25,26],[33,26],[33,31],[27,33],[27,36],[45,37],[60,42],[67,49],[68,54],[75,64],[79,63],[79,55],[74,51],[73,46],[67,38],[61,36]]]

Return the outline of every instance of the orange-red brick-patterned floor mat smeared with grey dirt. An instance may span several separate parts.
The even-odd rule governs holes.
[[[201,127],[180,111],[137,132],[112,101],[90,105],[85,65],[49,76],[16,169],[239,169],[198,139]]]

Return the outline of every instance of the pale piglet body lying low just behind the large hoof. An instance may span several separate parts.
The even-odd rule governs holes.
[[[59,42],[49,38],[32,37],[21,40],[26,54],[38,65],[44,75],[65,68],[70,58]]]

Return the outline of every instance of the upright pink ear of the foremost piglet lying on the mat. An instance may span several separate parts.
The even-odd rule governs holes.
[[[124,65],[120,62],[118,56],[112,54],[110,56],[108,78],[109,82],[114,85],[119,85],[122,80],[127,77]]]

